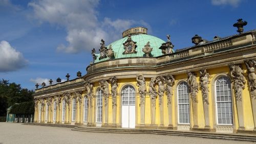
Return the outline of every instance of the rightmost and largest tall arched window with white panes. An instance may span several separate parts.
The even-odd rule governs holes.
[[[231,82],[228,77],[216,81],[217,124],[232,125]]]

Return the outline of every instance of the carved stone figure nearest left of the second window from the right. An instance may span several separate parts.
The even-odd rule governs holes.
[[[174,85],[174,76],[173,75],[170,75],[168,74],[165,78],[165,83],[166,83],[166,86],[165,86],[165,90],[166,90],[166,93],[167,93],[167,104],[170,104],[172,101],[172,96],[173,96],[173,85]]]

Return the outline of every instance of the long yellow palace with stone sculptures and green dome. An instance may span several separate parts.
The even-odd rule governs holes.
[[[194,46],[176,51],[169,35],[163,41],[143,27],[107,46],[101,40],[86,75],[35,90],[34,122],[254,132],[256,31],[242,30],[212,41],[195,35]]]

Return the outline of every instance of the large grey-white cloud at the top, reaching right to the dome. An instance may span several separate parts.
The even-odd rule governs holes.
[[[66,29],[69,44],[57,47],[58,51],[66,53],[90,51],[99,46],[101,38],[108,43],[120,38],[121,32],[132,25],[147,25],[142,20],[111,20],[108,17],[99,21],[96,11],[98,4],[99,1],[94,0],[41,0],[33,1],[29,6],[40,22],[49,22]]]

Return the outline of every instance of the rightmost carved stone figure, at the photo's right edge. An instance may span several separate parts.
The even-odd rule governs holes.
[[[248,60],[245,61],[246,67],[247,67],[247,73],[248,73],[248,79],[249,79],[249,86],[250,86],[250,93],[251,98],[256,98],[256,75],[255,75],[255,67],[256,67],[256,61],[255,60]]]

